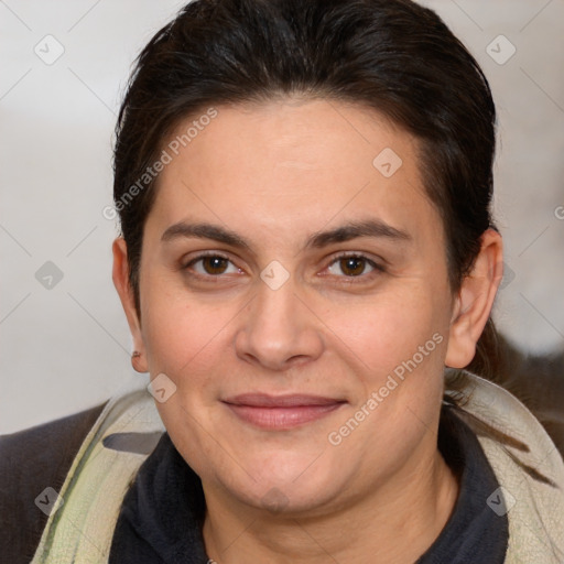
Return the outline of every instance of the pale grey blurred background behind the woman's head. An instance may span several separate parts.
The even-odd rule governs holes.
[[[183,3],[0,0],[0,433],[131,380],[111,282],[117,225],[102,216],[112,131],[131,63]],[[497,102],[495,319],[524,351],[562,350],[564,0],[421,3],[476,56]]]

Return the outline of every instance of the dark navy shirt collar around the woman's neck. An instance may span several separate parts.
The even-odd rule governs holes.
[[[501,564],[509,524],[487,503],[499,484],[473,431],[443,406],[438,448],[458,476],[453,514],[415,564]],[[202,481],[163,434],[128,490],[113,533],[110,564],[206,564]]]

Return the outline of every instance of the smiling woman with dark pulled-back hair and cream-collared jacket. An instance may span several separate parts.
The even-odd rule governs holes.
[[[152,397],[52,431],[33,562],[563,562],[557,449],[463,370],[498,360],[495,119],[410,1],[196,0],[161,30],[115,153]]]

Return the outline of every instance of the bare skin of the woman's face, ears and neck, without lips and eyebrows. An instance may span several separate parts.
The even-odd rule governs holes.
[[[220,564],[411,563],[457,498],[436,446],[443,370],[474,356],[501,278],[500,237],[484,234],[474,271],[453,294],[442,221],[424,193],[412,135],[373,110],[334,100],[217,109],[159,178],[144,226],[140,316],[126,243],[113,243],[113,281],[141,352],[134,367],[152,378],[164,372],[177,387],[156,406],[202,478],[208,555]],[[386,148],[403,161],[391,177],[372,165]],[[321,231],[376,219],[409,238],[306,246]],[[180,221],[227,229],[248,247],[163,241]],[[192,262],[202,252],[227,258],[223,273],[218,262]],[[343,252],[368,261],[351,271],[337,260]],[[278,290],[260,276],[271,261],[289,274]],[[328,434],[436,334],[442,343],[330,444]],[[223,402],[259,391],[344,403],[272,431]]]

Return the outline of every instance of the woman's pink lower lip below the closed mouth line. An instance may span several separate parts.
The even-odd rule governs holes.
[[[339,409],[343,403],[327,405],[300,405],[291,408],[261,408],[251,405],[226,405],[240,419],[252,425],[274,431],[293,429],[304,423],[317,421]]]

